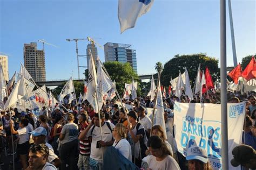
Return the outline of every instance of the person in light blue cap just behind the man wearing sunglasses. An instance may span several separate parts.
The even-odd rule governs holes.
[[[61,164],[60,159],[54,153],[52,146],[45,142],[45,138],[47,136],[46,129],[39,127],[30,132],[30,134],[32,134],[34,144],[45,144],[49,148],[48,162],[55,165],[56,167],[59,167]]]

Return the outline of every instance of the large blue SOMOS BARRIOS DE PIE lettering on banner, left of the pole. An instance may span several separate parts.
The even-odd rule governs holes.
[[[221,123],[217,121],[204,121],[199,117],[185,116],[180,139],[184,155],[186,155],[185,148],[198,145],[206,150],[208,158],[216,160],[216,162],[212,162],[214,167],[221,167],[220,125]],[[198,138],[199,143],[196,143]]]

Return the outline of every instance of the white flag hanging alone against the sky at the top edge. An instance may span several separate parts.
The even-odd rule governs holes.
[[[118,19],[121,33],[135,26],[136,20],[151,9],[154,0],[119,0]]]

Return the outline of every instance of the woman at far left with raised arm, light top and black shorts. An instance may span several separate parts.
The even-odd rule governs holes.
[[[18,134],[18,146],[17,146],[17,154],[19,155],[19,159],[21,159],[23,169],[28,167],[28,153],[29,153],[29,129],[28,129],[29,121],[28,119],[22,119],[19,122],[19,129],[16,131],[14,129],[14,121],[10,121],[10,129],[12,134]]]

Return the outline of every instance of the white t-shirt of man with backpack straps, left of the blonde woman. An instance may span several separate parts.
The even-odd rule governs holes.
[[[102,138],[100,137],[100,128],[98,126],[95,126],[95,128],[92,131],[93,126],[91,126],[91,129],[86,134],[86,137],[92,136],[90,158],[100,161],[100,160],[103,160],[102,149],[103,151],[105,151],[106,147],[96,148],[97,141],[100,141],[100,140],[103,140],[105,142],[111,141],[113,138],[111,131],[112,129],[114,129],[114,124],[110,123],[110,127],[111,127],[111,130],[110,130],[109,127],[107,127],[107,124],[104,123],[104,125],[102,126]],[[92,131],[92,134],[91,134],[91,131]]]

